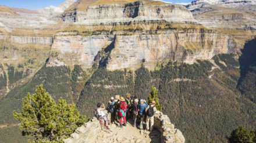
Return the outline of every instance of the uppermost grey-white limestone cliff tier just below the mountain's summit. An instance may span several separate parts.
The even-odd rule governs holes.
[[[86,11],[63,14],[63,21],[83,24],[121,23],[133,20],[195,22],[189,10],[180,5],[147,5],[145,1],[127,4],[88,6]]]

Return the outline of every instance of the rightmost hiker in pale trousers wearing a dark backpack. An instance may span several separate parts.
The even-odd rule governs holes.
[[[154,127],[154,114],[155,114],[155,112],[157,112],[157,108],[155,108],[155,104],[156,104],[156,102],[153,100],[145,110],[147,113],[146,129],[148,131],[152,131],[153,127]]]

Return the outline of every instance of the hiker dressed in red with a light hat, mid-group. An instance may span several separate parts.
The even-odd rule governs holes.
[[[125,98],[120,97],[120,102],[118,104],[118,118],[119,118],[119,122],[120,122],[120,126],[119,127],[123,127],[126,126],[126,118],[125,118],[125,112],[126,112],[126,102],[125,102]]]

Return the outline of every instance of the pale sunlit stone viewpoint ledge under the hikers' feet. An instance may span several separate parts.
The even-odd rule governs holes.
[[[130,124],[127,124],[123,129],[112,124],[111,131],[106,133],[101,131],[98,120],[93,118],[85,123],[84,126],[77,128],[77,130],[71,134],[71,137],[64,140],[64,142],[185,142],[182,132],[179,129],[175,129],[174,125],[170,123],[170,119],[167,115],[163,115],[162,112],[157,111],[155,113],[154,122],[154,128],[156,130],[152,133],[138,130],[136,127],[130,126]]]

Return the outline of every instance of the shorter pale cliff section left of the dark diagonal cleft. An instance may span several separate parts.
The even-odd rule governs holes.
[[[112,41],[113,35],[55,36],[48,65],[74,63],[90,68],[99,50]]]

